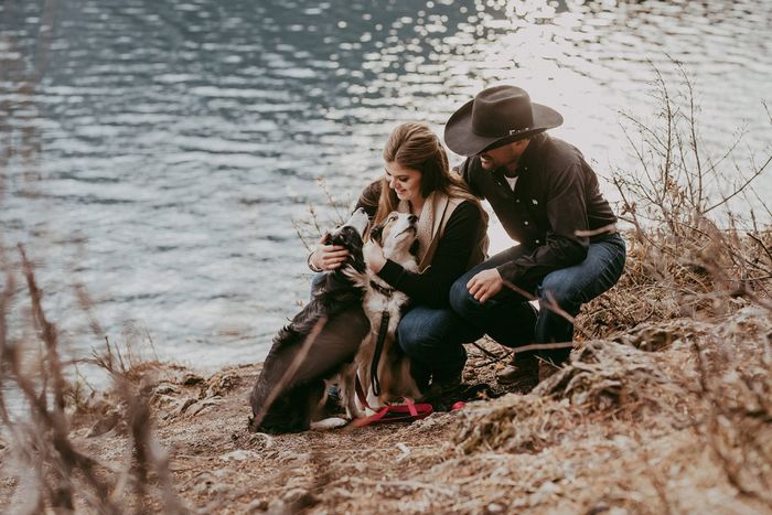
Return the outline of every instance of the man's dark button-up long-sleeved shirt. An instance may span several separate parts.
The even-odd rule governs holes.
[[[586,234],[616,222],[598,176],[565,141],[535,136],[517,164],[514,192],[504,172],[483,170],[478,157],[459,168],[472,193],[486,199],[506,233],[528,249],[497,268],[519,288],[534,291],[550,271],[581,262],[590,245]]]

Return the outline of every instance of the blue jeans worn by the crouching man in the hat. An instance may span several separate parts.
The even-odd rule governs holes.
[[[533,249],[512,247],[483,261],[461,276],[450,290],[453,310],[474,328],[510,347],[529,343],[570,342],[573,324],[565,315],[547,308],[553,301],[571,316],[581,304],[589,302],[614,286],[624,270],[625,245],[619,234],[590,244],[587,258],[579,265],[555,270],[542,280],[533,293],[539,299],[537,311],[524,297],[504,287],[484,304],[469,293],[467,283],[478,272],[517,259]],[[540,353],[556,363],[568,357],[570,350]]]

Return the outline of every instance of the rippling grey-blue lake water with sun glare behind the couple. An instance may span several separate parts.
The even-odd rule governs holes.
[[[74,356],[104,345],[93,316],[162,358],[256,362],[308,296],[296,226],[309,204],[335,219],[328,193],[352,202],[398,122],[441,131],[517,84],[608,175],[631,165],[619,111],[653,116],[652,63],[675,84],[673,57],[707,148],[744,128],[739,155],[765,157],[770,26],[772,2],[751,0],[4,0],[0,243],[14,266],[26,246]],[[11,335],[31,337],[17,277]]]

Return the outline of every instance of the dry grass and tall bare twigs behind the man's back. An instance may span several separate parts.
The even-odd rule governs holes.
[[[744,167],[735,155],[741,135],[721,154],[706,152],[691,81],[673,65],[683,76],[675,89],[654,68],[656,117],[624,115],[639,165],[611,182],[621,218],[632,226],[629,261],[616,287],[585,307],[580,328],[593,337],[647,322],[722,316],[746,304],[736,299],[772,308],[772,212],[754,190],[772,147],[761,164],[750,155]]]

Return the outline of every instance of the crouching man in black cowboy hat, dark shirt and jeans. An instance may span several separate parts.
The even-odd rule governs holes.
[[[525,90],[496,86],[464,104],[444,130],[448,147],[468,157],[461,176],[519,243],[459,278],[452,308],[510,347],[566,344],[515,353],[498,382],[521,391],[538,383],[538,357],[555,365],[568,358],[572,316],[624,269],[624,240],[596,173],[578,149],[545,132],[561,124]],[[539,300],[538,311],[529,298]]]

